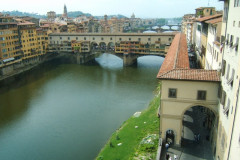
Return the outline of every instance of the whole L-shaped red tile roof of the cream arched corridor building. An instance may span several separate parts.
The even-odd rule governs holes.
[[[186,36],[181,33],[174,37],[157,78],[160,80],[220,81],[216,70],[190,69]]]

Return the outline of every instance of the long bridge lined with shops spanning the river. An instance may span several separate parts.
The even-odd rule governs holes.
[[[78,64],[95,58],[96,53],[111,53],[123,59],[124,66],[146,55],[165,57],[175,36],[173,33],[52,33],[49,52],[68,54]]]

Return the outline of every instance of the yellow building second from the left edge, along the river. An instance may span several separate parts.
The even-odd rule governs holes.
[[[35,24],[31,22],[18,23],[18,29],[20,33],[20,43],[24,54],[22,59],[37,57],[39,54]]]

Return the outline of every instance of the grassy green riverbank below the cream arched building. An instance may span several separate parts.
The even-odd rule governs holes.
[[[155,159],[159,139],[159,104],[160,95],[157,94],[146,110],[140,115],[134,114],[112,134],[96,159]]]

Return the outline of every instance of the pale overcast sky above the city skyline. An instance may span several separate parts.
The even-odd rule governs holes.
[[[216,7],[222,10],[219,0],[4,0],[1,11],[18,10],[45,14],[48,11],[63,12],[66,4],[68,11],[82,11],[94,16],[122,14],[137,18],[171,18],[194,13],[198,7]]]

